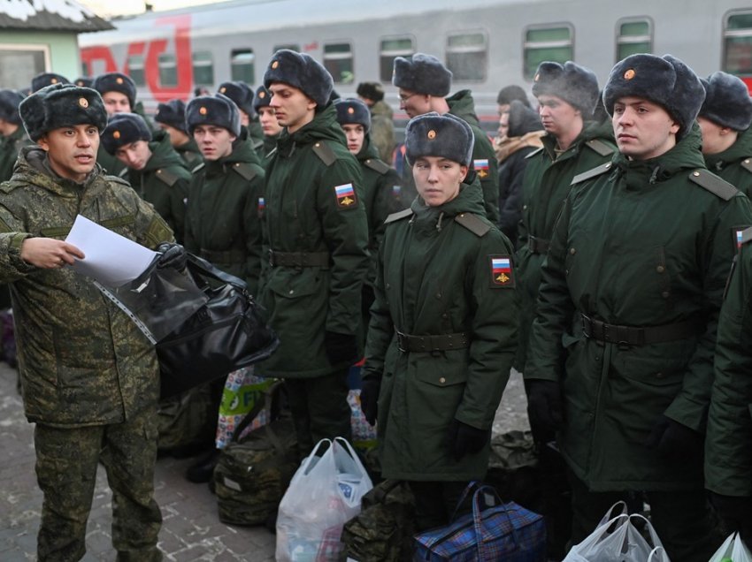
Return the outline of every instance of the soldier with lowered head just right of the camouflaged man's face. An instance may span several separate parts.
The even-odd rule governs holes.
[[[152,134],[149,125],[135,113],[113,115],[102,133],[104,149],[125,163],[127,181],[144,201],[154,205],[170,225],[178,242],[183,241],[190,172],[170,144],[167,133]]]

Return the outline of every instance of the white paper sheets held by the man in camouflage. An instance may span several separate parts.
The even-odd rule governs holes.
[[[76,216],[65,241],[81,249],[86,256],[73,263],[73,270],[111,287],[133,281],[149,267],[157,255],[149,248],[81,215]]]

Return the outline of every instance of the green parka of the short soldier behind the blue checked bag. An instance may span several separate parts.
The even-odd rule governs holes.
[[[511,252],[485,218],[480,189],[467,184],[440,207],[418,198],[389,218],[364,365],[365,379],[381,381],[377,428],[385,478],[451,482],[486,474],[489,446],[457,461],[449,428],[458,420],[491,429],[509,379],[518,328]],[[495,273],[494,265],[509,267]],[[469,345],[402,352],[396,330],[464,332]]]

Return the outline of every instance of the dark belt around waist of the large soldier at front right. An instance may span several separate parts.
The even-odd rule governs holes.
[[[593,338],[608,344],[623,346],[647,346],[661,344],[678,339],[693,338],[705,330],[705,322],[694,318],[685,322],[664,324],[663,326],[619,326],[594,320],[587,315],[582,316],[582,331],[586,338]]]

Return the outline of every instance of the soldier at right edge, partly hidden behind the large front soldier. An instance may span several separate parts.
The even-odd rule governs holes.
[[[705,101],[697,116],[702,131],[702,154],[708,170],[724,178],[748,197],[752,195],[752,98],[738,77],[714,72],[705,87]]]

